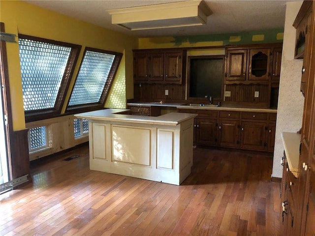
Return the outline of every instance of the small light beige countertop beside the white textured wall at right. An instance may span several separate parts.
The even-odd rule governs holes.
[[[282,132],[284,151],[290,171],[298,177],[301,135],[297,133]]]

